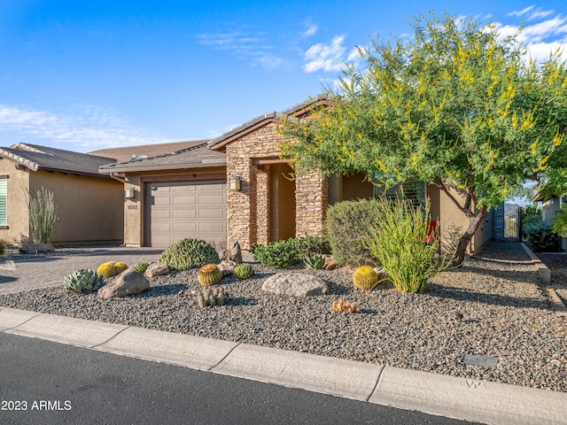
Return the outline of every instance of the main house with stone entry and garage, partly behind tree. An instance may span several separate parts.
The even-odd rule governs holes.
[[[361,174],[325,178],[316,170],[300,170],[294,180],[288,177],[289,161],[278,155],[283,142],[278,123],[289,115],[307,118],[329,104],[330,98],[319,95],[286,111],[260,115],[207,143],[102,166],[101,173],[130,189],[124,243],[165,247],[183,237],[199,237],[217,248],[238,242],[250,250],[252,243],[321,235],[329,205],[377,195],[376,186]],[[468,227],[466,217],[436,186],[408,182],[404,189],[423,202],[431,199],[431,215],[439,218],[441,228],[449,223]],[[487,216],[470,251],[491,238],[491,229]]]

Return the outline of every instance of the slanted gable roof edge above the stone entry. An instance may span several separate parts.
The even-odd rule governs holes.
[[[267,112],[260,115],[253,120],[245,122],[243,125],[237,128],[232,128],[230,131],[226,132],[219,137],[211,140],[207,143],[209,149],[214,151],[220,151],[227,143],[230,143],[240,137],[241,135],[252,131],[254,128],[260,127],[267,120],[283,120],[287,117],[301,117],[309,112],[315,105],[318,104],[331,104],[332,99],[329,95],[317,95],[307,99],[305,102],[296,104],[289,109],[282,112]]]

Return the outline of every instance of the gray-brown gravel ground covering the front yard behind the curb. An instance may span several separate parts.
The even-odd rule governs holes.
[[[321,277],[329,295],[275,296],[260,288],[276,271],[253,267],[251,279],[222,280],[225,306],[198,307],[197,270],[152,279],[150,290],[131,298],[71,295],[61,285],[0,296],[0,305],[567,392],[567,321],[551,310],[518,243],[488,243],[415,295],[357,290],[352,270],[294,269]],[[361,313],[334,312],[339,298]],[[496,357],[498,365],[466,365],[467,354]]]

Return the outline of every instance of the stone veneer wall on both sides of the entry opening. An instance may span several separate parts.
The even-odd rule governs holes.
[[[273,158],[283,136],[276,123],[256,128],[226,145],[227,179],[240,175],[240,191],[227,193],[227,244],[240,243],[250,250],[252,243],[269,242],[269,166],[252,165],[253,158]],[[296,235],[321,235],[329,204],[329,182],[308,171],[296,180]]]

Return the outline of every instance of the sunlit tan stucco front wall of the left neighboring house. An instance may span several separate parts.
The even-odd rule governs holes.
[[[8,175],[6,201],[8,228],[0,228],[0,238],[8,243],[19,243],[20,236],[29,236],[26,199],[29,173],[16,169],[13,161],[4,158],[0,160],[0,175]]]

